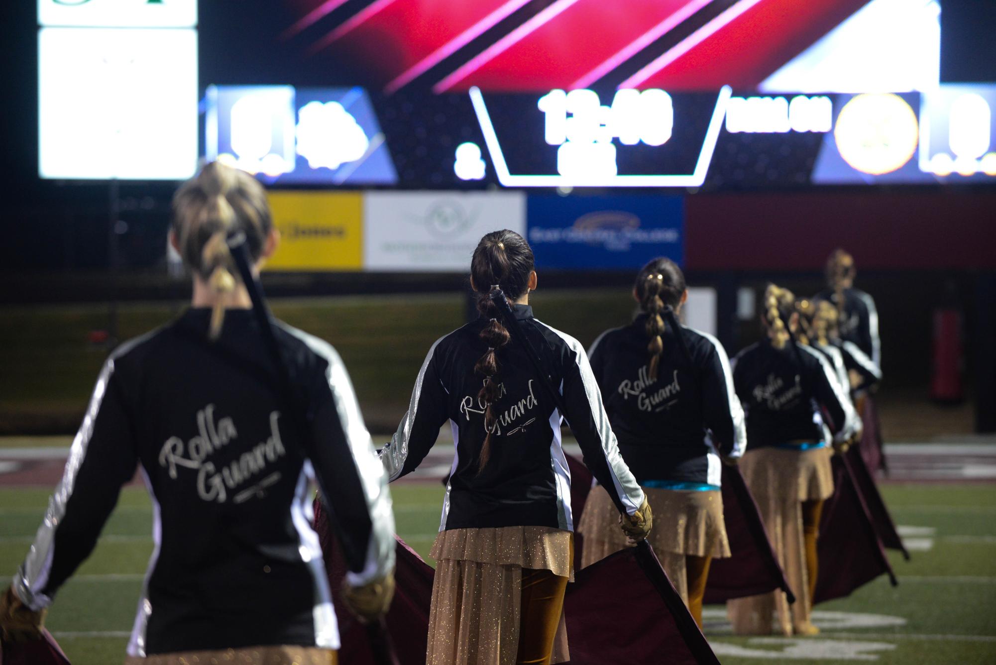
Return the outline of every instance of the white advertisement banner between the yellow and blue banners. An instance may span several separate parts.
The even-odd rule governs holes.
[[[522,192],[370,192],[364,267],[380,272],[470,272],[481,236],[526,235]]]

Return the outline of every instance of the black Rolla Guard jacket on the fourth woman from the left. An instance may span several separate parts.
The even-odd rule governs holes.
[[[796,353],[791,343],[776,348],[763,339],[733,359],[733,385],[747,415],[748,450],[793,441],[829,443],[825,427],[834,438],[857,431],[857,414],[830,362],[803,344],[796,344]]]

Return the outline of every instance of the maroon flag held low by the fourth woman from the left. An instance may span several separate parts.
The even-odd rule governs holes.
[[[882,573],[893,586],[897,583],[848,457],[834,455],[833,465],[834,495],[824,504],[820,522],[814,604],[851,595]]]

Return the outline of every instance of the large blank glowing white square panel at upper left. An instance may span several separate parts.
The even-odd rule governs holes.
[[[197,166],[197,31],[42,28],[39,174],[178,180]]]

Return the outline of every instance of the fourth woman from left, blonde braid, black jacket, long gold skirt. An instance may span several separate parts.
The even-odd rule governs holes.
[[[810,621],[817,577],[823,502],[833,493],[826,431],[854,436],[858,419],[833,368],[817,350],[793,340],[799,315],[791,292],[769,285],[762,323],[766,338],[734,359],[733,383],[747,415],[747,452],[740,468],[796,594],[782,591],[728,602],[741,634],[815,635]],[[772,614],[777,613],[772,624]]]

